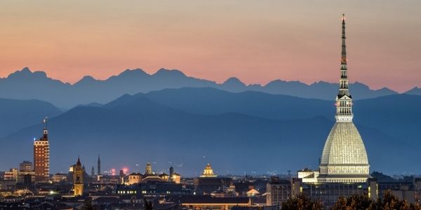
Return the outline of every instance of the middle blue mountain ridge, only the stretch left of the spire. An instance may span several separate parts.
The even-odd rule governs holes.
[[[138,93],[134,97],[147,97],[173,109],[206,115],[236,112],[274,120],[334,116],[333,102],[255,91],[233,93],[210,87],[183,87]]]

